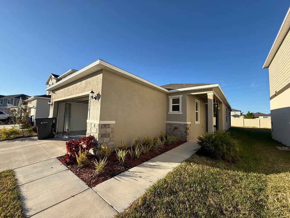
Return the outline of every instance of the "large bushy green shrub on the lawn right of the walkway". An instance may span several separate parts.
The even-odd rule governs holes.
[[[198,136],[197,144],[200,146],[198,154],[230,163],[240,160],[238,143],[228,131]]]

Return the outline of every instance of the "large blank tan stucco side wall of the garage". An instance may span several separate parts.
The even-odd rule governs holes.
[[[114,146],[155,137],[166,126],[166,94],[103,70],[100,121],[116,121]]]

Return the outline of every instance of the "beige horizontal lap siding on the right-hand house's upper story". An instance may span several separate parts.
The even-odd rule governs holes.
[[[270,97],[290,83],[290,31],[269,66]]]

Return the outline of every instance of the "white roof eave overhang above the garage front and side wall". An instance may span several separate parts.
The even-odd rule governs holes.
[[[52,86],[50,87],[47,87],[45,90],[46,91],[53,91],[57,88],[60,88],[66,84],[69,84],[73,81],[76,81],[77,79],[80,79],[80,78],[83,78],[89,74],[92,74],[96,71],[99,71],[101,69],[105,69],[105,70],[108,70],[108,71],[111,71],[115,74],[118,74],[120,76],[123,76],[125,78],[128,78],[130,80],[133,80],[133,81],[136,81],[140,84],[143,84],[143,85],[146,85],[146,86],[149,86],[151,88],[154,88],[158,91],[161,91],[161,92],[164,92],[164,93],[168,93],[168,90],[165,89],[165,88],[162,88],[156,84],[153,84],[147,80],[144,80],[134,74],[131,74],[127,71],[124,71],[122,70],[121,68],[118,68],[112,64],[109,64],[101,59],[98,59],[97,61],[93,62],[92,64],[89,64],[88,66],[80,69],[79,71],[76,71],[74,74],[71,74],[69,76],[67,76],[66,78],[58,81],[57,83],[53,84]]]

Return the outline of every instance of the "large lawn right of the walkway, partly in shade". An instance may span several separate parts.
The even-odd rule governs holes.
[[[194,154],[116,217],[290,217],[290,152],[269,129],[230,130],[240,162]]]

